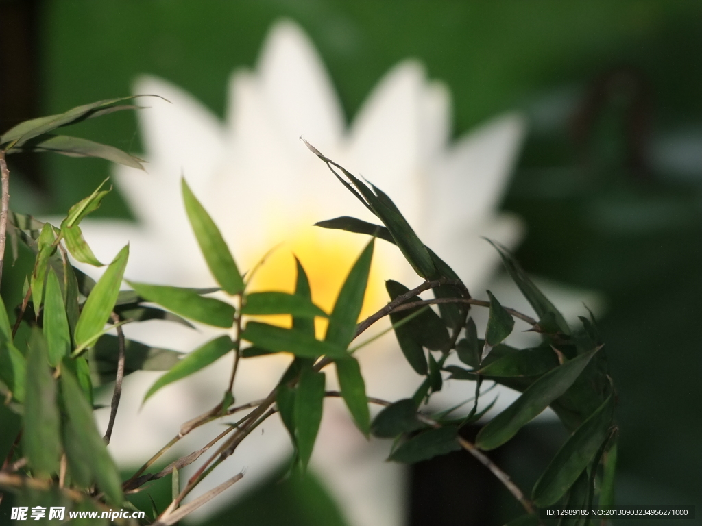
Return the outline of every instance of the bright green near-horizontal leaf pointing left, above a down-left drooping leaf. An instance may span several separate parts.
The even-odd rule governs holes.
[[[234,307],[219,299],[201,297],[189,288],[147,285],[134,281],[127,281],[127,283],[136,290],[138,295],[148,301],[164,306],[190,320],[223,328],[230,328],[234,324],[236,312]]]

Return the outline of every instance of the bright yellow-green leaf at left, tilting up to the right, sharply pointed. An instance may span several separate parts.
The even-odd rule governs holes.
[[[129,245],[125,245],[114,257],[110,267],[107,267],[105,274],[102,274],[95,288],[88,296],[76,324],[75,340],[77,347],[90,342],[105,327],[105,323],[107,323],[107,319],[110,318],[110,313],[114,309],[114,302],[117,301],[119,285],[122,283],[122,276],[124,276],[128,257]]]

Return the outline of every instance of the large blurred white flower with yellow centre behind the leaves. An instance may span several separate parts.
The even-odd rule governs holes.
[[[420,238],[471,290],[484,288],[498,264],[496,252],[479,236],[508,246],[520,237],[519,221],[498,213],[496,205],[522,139],[522,119],[501,116],[450,142],[448,90],[442,83],[427,81],[417,62],[408,60],[390,70],[350,128],[312,44],[291,22],[272,28],[254,72],[232,75],[224,123],[166,81],[144,77],[135,84],[135,93],[156,93],[171,101],[154,100],[151,109],[139,113],[148,173],[116,168],[117,186],[138,222],[84,223],[88,243],[102,259],[109,260],[117,248],[131,242],[126,276],[133,280],[214,284],[185,218],[179,184],[184,174],[242,270],[251,268],[268,248],[289,240],[261,269],[256,286],[291,290],[295,252],[310,274],[313,299],[329,309],[367,239],[310,225],[340,215],[374,218],[298,141],[300,135],[386,191]],[[329,274],[329,267],[336,274]],[[418,283],[399,252],[379,242],[366,310],[386,301],[386,278],[409,286]],[[212,334],[156,321],[128,325],[126,332],[128,337],[183,351]],[[264,396],[287,360],[243,360],[237,400]],[[404,363],[392,336],[362,351],[360,360],[371,396],[407,396],[421,380]],[[131,415],[154,374],[128,377],[110,445],[117,459],[123,464],[143,461],[176,434],[181,422],[217,403],[230,370],[230,364],[222,362],[163,389],[136,417]],[[468,390],[449,389],[445,396],[462,398]],[[221,480],[246,468],[242,482],[228,490],[230,498],[289,454],[289,439],[277,419],[270,419],[263,429],[263,435],[257,432],[245,440],[213,473],[223,472]],[[200,429],[187,442],[195,447],[216,433]],[[402,523],[406,472],[402,466],[383,463],[387,450],[388,443],[366,443],[338,400],[326,401],[312,465],[329,483],[352,525]],[[220,498],[215,504],[227,501]]]

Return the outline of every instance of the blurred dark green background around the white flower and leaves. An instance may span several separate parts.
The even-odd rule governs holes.
[[[314,41],[347,119],[408,57],[449,86],[454,135],[524,112],[527,141],[502,208],[528,226],[517,252],[528,271],[606,299],[600,327],[619,396],[618,504],[687,504],[700,513],[702,3],[2,0],[0,128],[128,95],[143,73],[221,116],[230,72],[254,64],[279,18]],[[127,112],[71,133],[140,151]],[[13,208],[34,214],[64,213],[110,175],[107,162],[93,159],[10,162]],[[111,198],[97,214],[130,211]],[[20,270],[6,271],[4,294],[21,292]],[[531,426],[501,453],[517,480],[543,470],[540,459],[558,443],[552,425]],[[12,437],[3,427],[5,447]],[[416,466],[409,521],[439,524],[428,506],[445,499],[453,504],[443,523],[498,524],[511,504],[480,476],[451,457]],[[470,502],[482,506],[484,522],[465,522]],[[343,524],[313,478],[264,487],[208,524],[234,519]]]

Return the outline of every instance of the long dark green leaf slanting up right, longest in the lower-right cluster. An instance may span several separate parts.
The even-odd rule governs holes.
[[[573,358],[536,380],[510,407],[479,431],[475,445],[482,450],[494,450],[510,440],[524,424],[567,391],[598,350]]]

